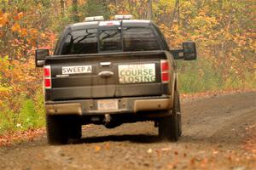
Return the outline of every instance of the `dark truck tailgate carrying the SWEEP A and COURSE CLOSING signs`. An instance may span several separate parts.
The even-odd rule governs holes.
[[[51,56],[45,63],[51,72],[46,100],[168,94],[161,59],[166,59],[163,51]]]

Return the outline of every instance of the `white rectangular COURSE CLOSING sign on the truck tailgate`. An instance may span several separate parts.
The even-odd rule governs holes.
[[[119,65],[119,82],[155,82],[155,64]]]

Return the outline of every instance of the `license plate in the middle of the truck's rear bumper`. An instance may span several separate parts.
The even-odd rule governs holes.
[[[119,109],[118,99],[102,99],[98,100],[99,111],[116,111]]]

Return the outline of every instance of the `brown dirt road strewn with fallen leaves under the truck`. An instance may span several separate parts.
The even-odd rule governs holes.
[[[183,136],[160,141],[153,122],[87,126],[79,144],[46,138],[0,148],[0,169],[234,169],[256,167],[241,145],[256,123],[256,93],[184,99]],[[255,133],[255,131],[254,131]],[[254,168],[255,169],[255,168]]]

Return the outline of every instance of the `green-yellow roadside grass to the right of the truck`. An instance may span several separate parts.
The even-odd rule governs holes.
[[[195,94],[208,91],[253,89],[256,87],[256,73],[245,70],[243,75],[229,72],[224,76],[207,59],[178,61],[178,88],[180,94]]]

